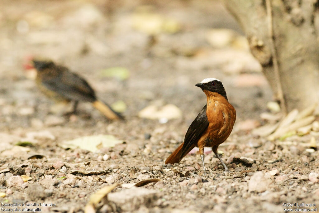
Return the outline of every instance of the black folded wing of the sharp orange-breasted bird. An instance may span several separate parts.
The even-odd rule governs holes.
[[[197,145],[197,141],[200,139],[204,131],[207,129],[209,121],[207,119],[206,109],[207,104],[203,107],[202,111],[197,115],[195,120],[189,126],[184,139],[182,156],[187,154],[185,153],[186,151],[190,151],[190,147],[194,147],[192,146],[192,144]]]

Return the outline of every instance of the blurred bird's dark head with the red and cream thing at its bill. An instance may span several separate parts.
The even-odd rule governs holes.
[[[43,71],[45,68],[49,68],[54,63],[48,59],[42,59],[39,57],[29,56],[25,58],[26,63],[23,64],[26,77],[29,79],[35,79],[37,72]]]

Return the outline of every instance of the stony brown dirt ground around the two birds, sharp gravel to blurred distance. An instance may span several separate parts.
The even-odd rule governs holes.
[[[3,0],[0,8],[1,211],[33,203],[29,208],[39,204],[42,212],[84,212],[91,194],[114,183],[119,186],[97,212],[284,212],[288,203],[319,205],[319,155],[300,145],[310,135],[268,141],[251,134],[265,123],[260,114],[272,94],[240,27],[219,2]],[[150,22],[158,27],[147,27]],[[218,28],[233,31],[212,31]],[[125,121],[107,120],[90,103],[69,117],[51,112],[54,103],[24,75],[29,55],[68,66],[109,104],[123,101]],[[110,67],[128,69],[129,78],[103,76]],[[208,77],[222,80],[237,111],[234,131],[219,147],[230,173],[209,148],[208,174],[195,151],[164,165],[205,104],[195,84]],[[182,111],[180,118],[137,116],[168,103]],[[95,153],[59,146],[100,134],[124,143]],[[19,141],[29,143],[15,146]],[[145,179],[162,181],[126,188]]]

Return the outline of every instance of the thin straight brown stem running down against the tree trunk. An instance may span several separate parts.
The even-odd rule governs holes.
[[[280,106],[281,106],[282,112],[287,114],[286,102],[284,99],[284,95],[282,92],[282,86],[281,86],[281,82],[280,82],[279,65],[278,65],[277,53],[276,53],[276,49],[275,49],[274,33],[273,33],[273,28],[272,28],[273,23],[272,23],[271,0],[266,0],[266,10],[267,10],[268,33],[269,33],[269,38],[270,38],[270,49],[271,49],[271,55],[272,55],[272,63],[274,65],[275,81],[277,84],[277,95],[278,95],[278,99],[280,100]]]

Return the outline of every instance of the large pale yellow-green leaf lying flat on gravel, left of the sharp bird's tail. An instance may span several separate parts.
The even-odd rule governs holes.
[[[65,149],[81,148],[91,152],[96,152],[103,147],[114,147],[115,144],[123,143],[122,140],[116,139],[113,135],[91,135],[76,138],[71,141],[63,141],[59,144]]]

